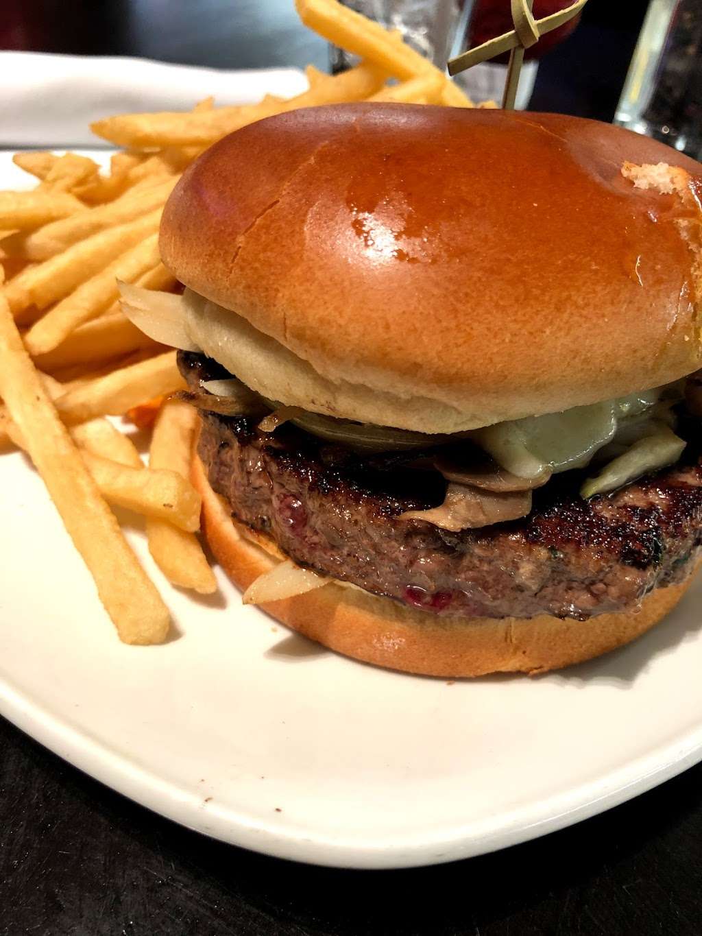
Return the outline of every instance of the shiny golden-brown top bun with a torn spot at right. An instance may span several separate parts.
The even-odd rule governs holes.
[[[698,186],[664,144],[561,114],[294,110],[187,169],[161,254],[275,340],[265,370],[299,361],[277,399],[458,431],[700,367]]]

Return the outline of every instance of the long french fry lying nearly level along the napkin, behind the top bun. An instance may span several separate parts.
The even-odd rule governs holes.
[[[410,76],[407,76],[410,77]],[[322,75],[308,68],[310,90],[289,100],[264,97],[259,104],[215,108],[190,113],[123,114],[92,124],[98,137],[131,147],[210,144],[246,124],[297,108],[363,100],[383,84],[384,74],[362,63],[340,75]]]

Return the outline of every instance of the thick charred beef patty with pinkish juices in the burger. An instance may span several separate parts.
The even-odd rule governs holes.
[[[192,388],[227,376],[200,355],[181,352],[179,364]],[[448,533],[399,519],[442,502],[437,472],[359,455],[290,424],[270,434],[245,416],[200,415],[199,456],[234,518],[296,563],[436,614],[585,620],[636,607],[686,578],[702,543],[693,445],[677,465],[614,494],[584,501],[578,473],[557,475],[534,492],[528,517]]]

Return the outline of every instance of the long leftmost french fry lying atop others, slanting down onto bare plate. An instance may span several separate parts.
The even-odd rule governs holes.
[[[131,644],[160,643],[168,635],[168,608],[56,414],[1,293],[0,395],[120,638]]]

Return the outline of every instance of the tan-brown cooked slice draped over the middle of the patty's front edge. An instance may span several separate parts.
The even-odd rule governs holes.
[[[425,520],[442,530],[459,533],[526,517],[531,509],[531,490],[498,493],[452,482],[446,488],[442,505],[430,510],[407,510],[400,519]]]

